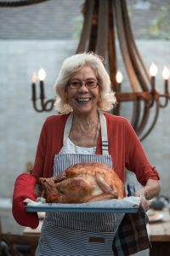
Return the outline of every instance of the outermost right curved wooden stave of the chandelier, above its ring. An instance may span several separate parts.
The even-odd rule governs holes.
[[[126,1],[122,1],[122,8],[124,10],[125,18],[127,20],[127,23],[126,23],[127,24],[127,31],[129,33],[129,35],[131,35],[133,49],[134,49],[136,55],[138,55],[140,65],[141,65],[141,67],[143,67],[143,70],[144,70],[144,73],[145,73],[147,79],[150,81],[150,73],[148,72],[148,69],[144,66],[144,61],[142,61],[141,55],[139,54],[139,49],[137,48],[135,40],[133,38],[133,31],[132,31],[130,19],[129,19],[129,16],[128,16]]]

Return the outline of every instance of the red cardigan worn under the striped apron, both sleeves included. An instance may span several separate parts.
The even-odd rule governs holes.
[[[42,126],[37,154],[32,170],[35,177],[53,176],[54,155],[59,154],[63,146],[63,133],[68,114],[53,115],[46,119]],[[105,113],[109,137],[109,153],[113,160],[115,172],[125,181],[125,168],[134,172],[139,183],[159,179],[156,168],[150,165],[144,154],[142,144],[127,119]],[[101,131],[97,142],[96,154],[101,153]]]

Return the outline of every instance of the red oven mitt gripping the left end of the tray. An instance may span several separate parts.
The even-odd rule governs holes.
[[[23,202],[26,198],[32,201],[37,200],[35,193],[36,178],[27,173],[20,174],[14,183],[13,207],[12,212],[16,222],[22,226],[36,229],[39,224],[37,212],[26,212],[26,204]]]

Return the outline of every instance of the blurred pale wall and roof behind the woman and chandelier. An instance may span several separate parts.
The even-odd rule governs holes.
[[[10,2],[10,1],[8,1]],[[83,0],[50,0],[20,8],[0,8],[0,211],[3,232],[20,233],[23,227],[11,215],[15,178],[29,169],[46,117],[31,102],[31,76],[46,72],[44,90],[54,97],[54,81],[65,57],[77,50],[82,31]],[[156,88],[163,90],[161,71],[170,68],[170,0],[128,0],[133,36],[149,70],[158,67]],[[119,49],[117,49],[119,52]],[[118,55],[123,81],[126,73]],[[122,86],[123,86],[122,81]],[[122,109],[126,116],[128,107]],[[161,175],[161,195],[170,196],[170,105],[162,108],[153,131],[142,143],[150,163]],[[134,177],[127,172],[127,182]]]

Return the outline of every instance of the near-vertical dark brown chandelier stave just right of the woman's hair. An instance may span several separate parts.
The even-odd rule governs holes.
[[[115,31],[114,31],[114,14],[113,14],[113,4],[112,0],[109,0],[109,20],[108,20],[108,61],[109,61],[109,71],[111,77],[111,86],[112,90],[117,91],[117,83],[116,83],[116,45],[115,45]],[[120,87],[120,86],[119,86]]]

